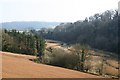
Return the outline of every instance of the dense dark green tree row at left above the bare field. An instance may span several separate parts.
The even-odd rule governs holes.
[[[15,29],[2,30],[2,51],[39,55],[40,57],[43,54],[44,49],[44,39],[32,31],[21,33]]]

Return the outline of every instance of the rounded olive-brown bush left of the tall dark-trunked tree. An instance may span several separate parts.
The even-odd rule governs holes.
[[[75,69],[79,62],[79,57],[72,53],[67,53],[62,49],[53,49],[53,52],[43,56],[43,63],[69,69]]]

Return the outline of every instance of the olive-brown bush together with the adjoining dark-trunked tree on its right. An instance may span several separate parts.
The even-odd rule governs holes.
[[[70,52],[59,48],[48,48],[48,52],[42,57],[42,63],[84,72],[84,63],[89,49],[89,46],[80,44],[72,45]]]

